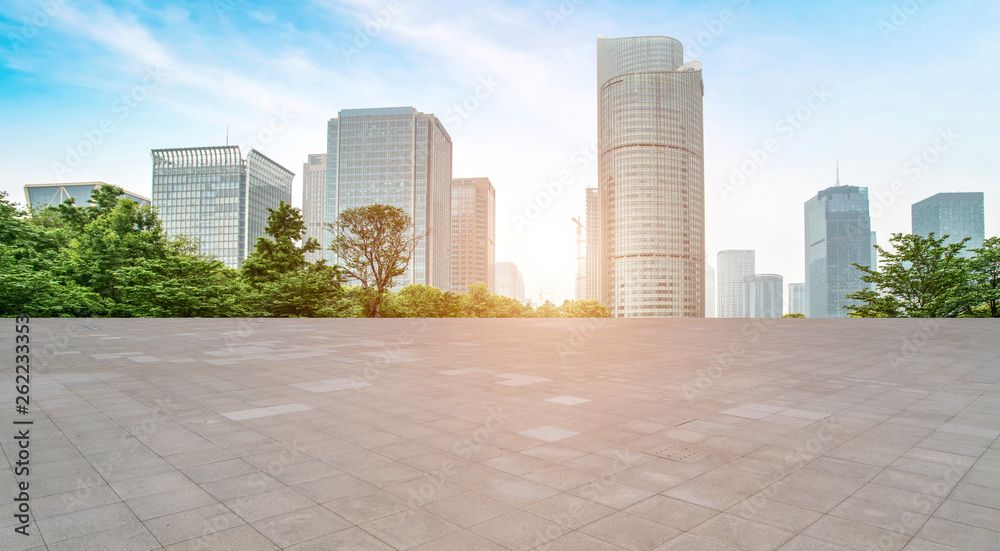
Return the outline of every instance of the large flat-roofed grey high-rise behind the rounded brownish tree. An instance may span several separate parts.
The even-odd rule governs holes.
[[[413,107],[343,109],[327,125],[326,163],[324,221],[376,203],[403,209],[419,243],[396,284],[450,291],[451,136],[441,121]],[[324,249],[332,238],[323,233]]]

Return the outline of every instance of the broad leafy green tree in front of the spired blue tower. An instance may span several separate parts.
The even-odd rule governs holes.
[[[933,233],[927,237],[894,233],[889,240],[894,252],[876,245],[878,270],[854,266],[865,273],[861,280],[874,283],[877,290],[847,295],[860,301],[847,307],[849,315],[942,318],[968,313],[974,299],[968,285],[968,267],[960,256],[968,238],[945,244],[947,238],[935,238]]]

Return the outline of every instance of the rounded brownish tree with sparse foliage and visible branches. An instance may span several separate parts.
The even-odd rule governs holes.
[[[330,250],[337,254],[345,276],[361,285],[365,315],[381,315],[393,280],[404,273],[422,236],[412,235],[406,211],[391,205],[367,205],[340,213],[337,224],[327,224],[335,235]]]

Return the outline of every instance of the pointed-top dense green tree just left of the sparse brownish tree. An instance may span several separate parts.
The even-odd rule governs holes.
[[[302,212],[285,203],[268,209],[268,237],[257,238],[241,271],[253,287],[260,315],[275,317],[337,317],[349,310],[343,301],[340,270],[325,260],[310,264],[306,253],[320,250],[313,238],[302,242],[306,225]],[[298,243],[302,242],[300,246]]]

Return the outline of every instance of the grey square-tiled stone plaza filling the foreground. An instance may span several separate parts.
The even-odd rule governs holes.
[[[993,320],[13,325],[3,550],[1000,549]]]

